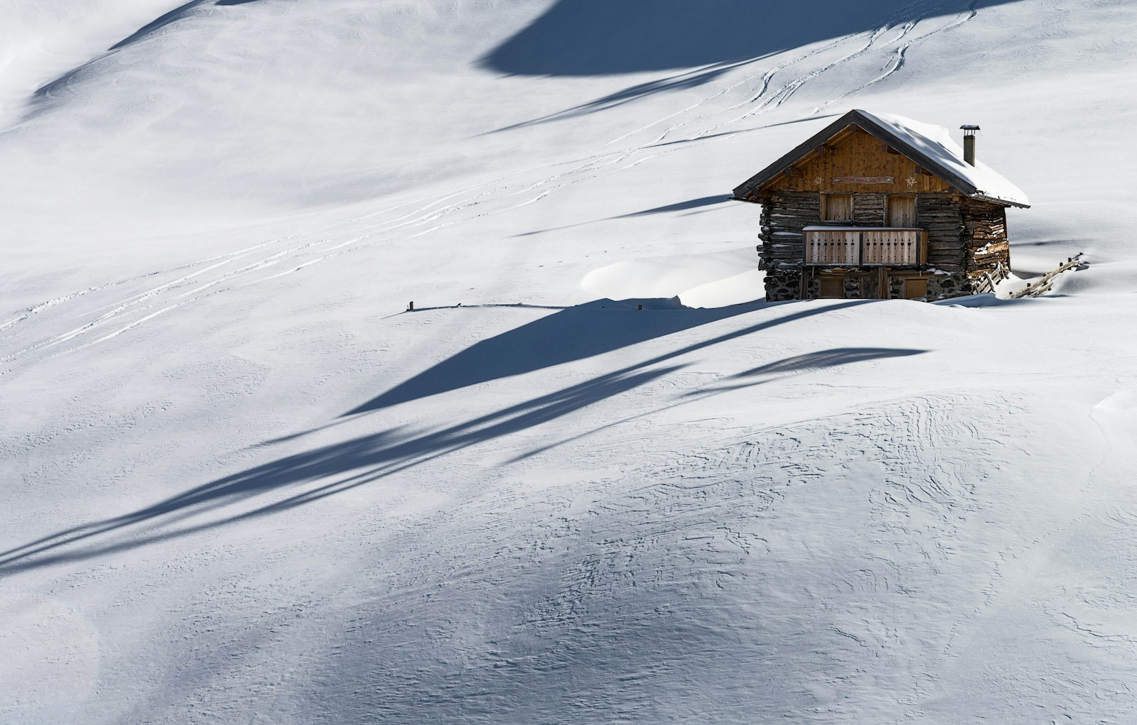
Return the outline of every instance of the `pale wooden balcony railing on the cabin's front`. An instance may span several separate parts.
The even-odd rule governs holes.
[[[920,265],[923,230],[868,226],[805,227],[805,264],[833,267]]]

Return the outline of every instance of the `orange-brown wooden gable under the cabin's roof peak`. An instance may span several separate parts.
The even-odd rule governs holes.
[[[905,194],[951,192],[951,184],[858,126],[848,126],[769,180],[777,191]]]

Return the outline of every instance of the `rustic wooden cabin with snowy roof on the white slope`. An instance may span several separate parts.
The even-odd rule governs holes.
[[[948,132],[852,110],[735,190],[762,205],[766,300],[939,300],[1009,269],[1026,194]]]

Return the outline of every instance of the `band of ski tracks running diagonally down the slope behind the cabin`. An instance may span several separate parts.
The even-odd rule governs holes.
[[[919,25],[921,19],[905,22],[899,27],[894,24],[893,19],[888,19],[880,27],[868,32],[866,38],[865,33],[862,33],[823,43],[818,48],[794,56],[792,58],[777,64],[761,73],[746,75],[745,77],[721,88],[716,92],[711,93],[709,95],[680,110],[667,114],[661,118],[656,118],[655,120],[639,126],[638,128],[622,133],[614,139],[589,148],[572,157],[564,157],[556,161],[537,165],[489,182],[476,183],[442,197],[426,197],[401,202],[377,211],[358,215],[335,224],[260,242],[233,252],[217,255],[207,259],[171,267],[159,272],[148,273],[146,275],[127,280],[92,285],[72,294],[55,298],[33,306],[0,324],[0,332],[8,333],[8,336],[5,340],[6,342],[13,341],[17,333],[23,333],[23,327],[25,327],[27,323],[41,319],[44,312],[53,310],[55,308],[80,298],[110,292],[151,277],[184,273],[193,269],[193,272],[190,272],[189,274],[181,274],[174,280],[131,294],[118,301],[108,302],[92,308],[92,312],[102,311],[102,314],[83,325],[56,334],[49,334],[36,340],[35,342],[32,342],[31,344],[24,344],[18,347],[16,350],[5,353],[0,357],[0,365],[5,366],[3,369],[0,369],[0,375],[18,370],[19,367],[17,364],[27,365],[34,359],[33,353],[42,353],[77,338],[85,336],[90,333],[97,333],[117,322],[127,322],[127,318],[132,316],[136,317],[136,319],[127,322],[127,324],[110,334],[99,336],[91,342],[69,347],[61,351],[56,351],[47,357],[56,358],[63,355],[70,355],[93,344],[113,340],[122,333],[134,330],[141,323],[155,319],[164,312],[207,299],[218,293],[277,280],[317,262],[343,255],[355,248],[358,248],[363,243],[375,243],[392,239],[399,240],[418,238],[463,222],[468,222],[488,215],[508,213],[538,201],[542,201],[555,192],[570,185],[595,180],[604,174],[619,173],[621,170],[632,168],[636,165],[645,163],[656,156],[674,152],[675,149],[659,150],[654,147],[657,147],[680,132],[688,132],[686,135],[687,139],[697,140],[740,122],[772,113],[781,107],[803,86],[818,77],[821,77],[825,73],[862,58],[870,52],[887,50],[890,60],[886,64],[883,73],[880,76],[864,83],[853,91],[844,93],[840,97],[818,106],[813,110],[813,114],[816,114],[828,106],[839,102],[848,95],[853,95],[871,85],[875,85],[897,73],[904,66],[906,53],[914,43],[926,40],[937,33],[958,27],[963,23],[974,18],[977,15],[977,5],[978,0],[973,0],[968,13],[962,14],[961,17],[956,18],[954,22],[911,40],[906,39],[908,39],[912,31]],[[901,14],[906,14],[913,10],[931,14],[937,9],[937,7],[940,6],[929,0],[918,0],[901,10]],[[901,14],[894,17],[901,17]],[[880,44],[880,39],[894,30],[896,31],[896,34],[885,43]],[[897,43],[901,44],[896,48],[890,48]],[[824,56],[825,53],[838,51],[841,47],[848,44],[853,44],[854,48],[852,48],[849,52],[841,55],[837,60],[824,63],[818,68],[807,69],[807,65],[812,59],[819,56]],[[802,68],[802,72],[795,74],[795,69],[797,68]],[[792,77],[775,88],[774,81],[786,74],[789,74]],[[744,93],[742,100],[729,100],[729,97],[732,93],[750,86],[754,83],[757,83],[757,86],[754,90]],[[713,106],[719,100],[725,100],[727,103],[719,108],[707,108],[708,106]],[[732,115],[740,108],[746,108],[747,110],[740,115]],[[658,128],[661,125],[663,128],[652,134],[652,130]],[[698,128],[692,130],[691,126],[698,126]],[[641,136],[644,134],[652,135],[647,136],[646,140],[632,143],[631,145],[626,145],[619,150],[607,150],[615,144],[620,144],[629,139]],[[518,197],[522,198],[520,201],[517,201]],[[410,207],[410,210],[406,210],[407,207]],[[383,217],[390,214],[397,214],[398,216],[379,222],[373,220],[376,217]],[[296,240],[300,240],[302,238],[312,238],[315,235],[327,236],[329,233],[342,234],[345,232],[354,232],[357,235],[346,242],[338,241],[335,239],[321,239],[318,241],[312,241],[299,245],[290,245],[287,249],[274,251],[273,253],[259,258],[256,261],[238,269],[218,272],[223,267],[230,266],[244,257],[264,252],[265,250],[271,250],[281,244],[294,242]],[[289,268],[285,272],[276,274],[259,277],[255,276],[256,273],[279,265],[288,265]],[[214,273],[215,276],[208,277],[207,275],[210,273]],[[244,278],[249,276],[252,276],[254,278]],[[169,297],[172,291],[180,290],[185,286],[189,286],[190,289],[185,292]],[[174,303],[171,305],[171,301]],[[35,335],[36,333],[38,331],[28,331],[25,334]]]

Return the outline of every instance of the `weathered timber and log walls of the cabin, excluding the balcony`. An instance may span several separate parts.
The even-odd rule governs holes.
[[[828,194],[852,194],[852,214],[848,200],[836,198],[829,209],[832,214],[827,215]],[[806,226],[889,226],[889,200],[896,195],[914,198],[911,226],[927,231],[927,257],[921,264],[890,266],[879,277],[850,265],[805,265]],[[841,132],[748,198],[762,203],[758,249],[767,300],[816,297],[827,280],[829,290],[838,289],[836,282],[841,281],[846,297],[904,297],[911,285],[927,286],[929,300],[944,299],[970,294],[984,273],[994,272],[999,262],[1010,266],[1003,206],[964,197],[856,127]],[[904,203],[907,218],[913,201]],[[843,218],[825,220],[833,215]]]

